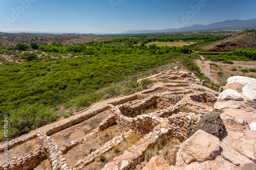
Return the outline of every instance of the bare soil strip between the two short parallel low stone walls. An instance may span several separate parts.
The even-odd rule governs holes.
[[[70,165],[75,164],[90,154],[91,149],[98,150],[103,144],[105,144],[105,142],[108,142],[115,136],[120,135],[121,132],[118,131],[117,125],[111,126],[96,135],[88,137],[88,140],[82,141],[81,144],[76,145],[65,154],[65,158]]]

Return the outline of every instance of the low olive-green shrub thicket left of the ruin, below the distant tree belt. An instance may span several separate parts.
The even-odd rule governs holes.
[[[46,114],[38,112],[42,106],[53,108],[75,99],[77,107],[88,107],[104,95],[96,94],[96,90],[183,56],[183,53],[121,54],[20,64],[3,61],[0,66],[1,116],[9,115],[10,136],[28,132],[58,118],[54,110],[49,109]]]

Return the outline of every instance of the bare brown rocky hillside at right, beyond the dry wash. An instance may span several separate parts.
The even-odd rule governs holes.
[[[240,48],[256,47],[256,32],[220,40],[203,47],[204,52],[229,52]]]

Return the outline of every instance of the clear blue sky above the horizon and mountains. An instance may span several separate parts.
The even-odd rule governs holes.
[[[255,0],[0,0],[0,31],[121,33],[256,18]],[[111,5],[112,4],[112,5]],[[15,15],[16,14],[16,15]],[[184,22],[183,22],[184,23]]]

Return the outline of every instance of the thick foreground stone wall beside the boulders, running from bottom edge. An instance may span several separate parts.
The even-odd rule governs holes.
[[[181,139],[181,141],[186,139],[186,126],[195,126],[200,119],[193,113],[180,113],[174,114],[168,118],[158,117],[157,125],[152,132],[144,135],[139,141],[137,141],[131,148],[120,155],[110,163],[105,164],[102,170],[108,169],[122,169],[122,170],[132,170],[138,165],[139,160],[144,157],[145,151],[147,149],[153,148],[158,142],[166,140],[169,136],[174,139]],[[183,121],[183,122],[182,122]],[[172,123],[172,125],[170,125]],[[174,129],[176,129],[174,131]],[[183,137],[179,137],[184,136]]]

